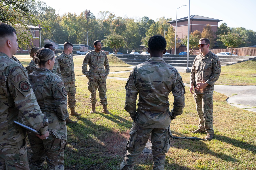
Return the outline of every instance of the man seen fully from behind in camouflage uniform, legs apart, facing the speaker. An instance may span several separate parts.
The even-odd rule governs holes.
[[[132,170],[137,158],[151,136],[153,169],[163,170],[165,154],[170,148],[171,120],[182,114],[185,106],[185,86],[179,72],[163,60],[166,40],[152,36],[148,40],[149,61],[131,70],[126,83],[125,110],[133,123],[127,142],[127,153],[120,168]],[[174,97],[173,109],[169,110],[169,93]],[[138,109],[136,99],[139,93]]]

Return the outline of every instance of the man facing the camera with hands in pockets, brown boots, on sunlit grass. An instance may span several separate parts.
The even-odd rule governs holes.
[[[96,91],[98,88],[100,103],[103,107],[103,113],[110,114],[107,109],[107,76],[109,74],[109,64],[107,55],[101,51],[101,42],[96,40],[94,41],[94,50],[90,51],[86,54],[82,71],[83,74],[88,78],[88,90],[91,92],[90,95],[90,103],[91,103],[91,111],[90,113],[95,113],[95,104],[97,102],[96,99]],[[87,70],[87,65],[89,64],[89,70]],[[105,69],[104,69],[105,67]]]

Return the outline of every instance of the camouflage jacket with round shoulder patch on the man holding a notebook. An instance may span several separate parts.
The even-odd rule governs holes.
[[[12,144],[26,137],[17,120],[41,134],[48,131],[48,119],[42,114],[21,64],[0,53],[0,145]]]

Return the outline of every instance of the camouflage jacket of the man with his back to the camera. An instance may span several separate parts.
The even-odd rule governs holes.
[[[152,57],[131,70],[125,86],[125,110],[144,128],[164,128],[182,114],[185,86],[179,72],[160,57]],[[138,109],[136,99],[139,92]],[[169,110],[169,93],[174,97]]]

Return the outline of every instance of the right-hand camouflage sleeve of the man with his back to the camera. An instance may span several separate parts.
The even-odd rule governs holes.
[[[171,110],[171,120],[182,114],[183,108],[185,107],[185,93],[185,85],[183,84],[180,73],[178,73],[175,87],[172,89],[174,101],[173,109]]]

